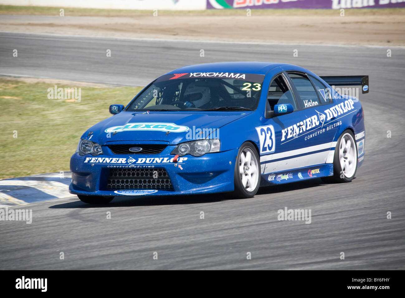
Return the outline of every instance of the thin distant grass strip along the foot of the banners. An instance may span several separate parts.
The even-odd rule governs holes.
[[[63,6],[13,6],[0,5],[0,15],[59,15],[59,10],[64,9],[65,16],[98,16],[98,17],[135,17],[152,15],[151,10],[127,10],[127,9],[87,9],[70,8]],[[333,9],[253,9],[254,15],[339,15],[338,10]],[[404,14],[405,9],[346,9],[346,15],[392,15]],[[246,15],[245,9],[207,9],[203,11],[165,11],[159,10],[159,15],[176,16],[235,16]]]

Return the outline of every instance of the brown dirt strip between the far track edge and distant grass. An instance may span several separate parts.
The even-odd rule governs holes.
[[[135,13],[133,16],[0,15],[0,30],[116,38],[261,43],[405,45],[405,9]]]

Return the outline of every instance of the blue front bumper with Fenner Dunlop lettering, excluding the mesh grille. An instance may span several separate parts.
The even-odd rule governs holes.
[[[75,153],[70,158],[72,183],[69,192],[75,195],[144,196],[221,193],[234,190],[234,167],[238,149],[208,153],[201,157],[185,155],[179,157],[178,162],[173,162],[174,155],[170,154],[173,148],[175,146],[167,146],[160,154],[148,155],[106,152],[94,157],[90,154],[80,156]],[[164,169],[173,188],[157,191],[151,191],[153,188],[122,188],[125,191],[107,189],[111,169]]]

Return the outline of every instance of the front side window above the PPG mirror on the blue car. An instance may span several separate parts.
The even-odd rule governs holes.
[[[294,95],[288,84],[284,80],[283,75],[278,75],[273,79],[269,86],[269,93],[267,93],[267,100],[269,101],[271,110],[274,110],[274,105],[279,103],[289,103],[294,107],[294,110],[297,109],[297,104],[294,99]]]

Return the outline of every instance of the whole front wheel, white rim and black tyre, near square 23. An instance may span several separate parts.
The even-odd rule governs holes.
[[[243,143],[239,148],[235,163],[234,184],[234,194],[241,198],[254,197],[259,189],[259,154],[250,142]]]

